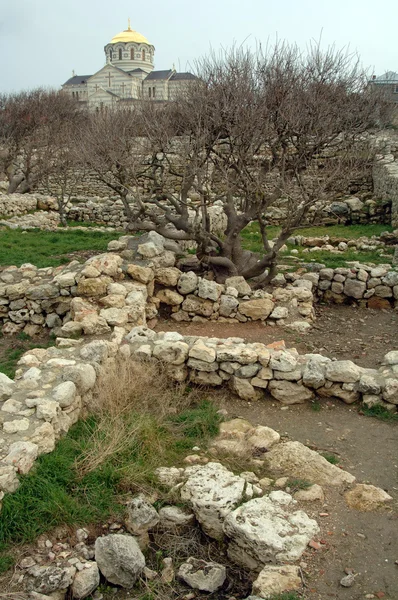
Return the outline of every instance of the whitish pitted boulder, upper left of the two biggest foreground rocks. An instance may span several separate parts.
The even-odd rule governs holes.
[[[223,538],[223,521],[244,498],[246,482],[220,463],[188,467],[181,499],[188,501],[204,532]]]

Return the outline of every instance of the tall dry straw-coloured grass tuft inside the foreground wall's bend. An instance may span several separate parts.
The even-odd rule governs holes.
[[[171,382],[160,364],[118,362],[101,377],[89,406],[96,423],[75,463],[80,476],[111,460],[126,481],[122,487],[140,487],[162,460],[167,464],[175,438],[168,419],[200,398],[198,390]]]

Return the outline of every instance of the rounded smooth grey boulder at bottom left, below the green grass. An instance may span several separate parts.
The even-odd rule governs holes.
[[[110,534],[95,541],[95,560],[103,576],[130,589],[145,567],[145,558],[132,536]]]

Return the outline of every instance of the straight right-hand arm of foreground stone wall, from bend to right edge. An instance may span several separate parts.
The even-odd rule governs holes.
[[[127,336],[131,352],[141,360],[165,363],[176,381],[228,385],[243,400],[270,394],[281,404],[301,404],[320,398],[340,398],[346,404],[362,400],[398,404],[398,351],[386,354],[379,369],[358,367],[349,360],[334,361],[320,354],[300,356],[296,349],[275,344],[247,343],[240,338],[216,339],[155,333],[134,328]]]

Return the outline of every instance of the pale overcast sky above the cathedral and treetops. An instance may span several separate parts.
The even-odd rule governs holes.
[[[398,72],[397,0],[0,0],[0,91],[59,87],[105,64],[127,29],[155,46],[155,68],[190,69],[211,48],[277,38],[349,46],[377,75]]]

